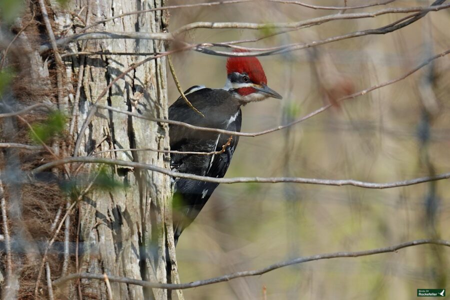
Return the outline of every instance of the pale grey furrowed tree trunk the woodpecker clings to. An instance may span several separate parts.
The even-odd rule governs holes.
[[[88,23],[124,12],[163,5],[163,0],[77,0],[77,13],[82,7]],[[57,9],[54,9],[55,11]],[[56,26],[67,23],[67,11],[56,13]],[[76,22],[76,20],[75,20]],[[98,25],[96,30],[160,32],[165,27],[162,11],[132,14]],[[72,27],[73,29],[74,27]],[[76,30],[74,30],[76,32]],[[164,44],[153,40],[108,39],[90,40],[70,46],[72,51],[102,52],[163,52]],[[68,56],[70,57],[70,56]],[[66,59],[66,78],[69,99],[74,99],[76,82],[82,68],[79,104],[75,107],[73,140],[81,134],[78,154],[120,148],[167,149],[166,124],[149,122],[125,114],[98,110],[85,132],[79,132],[92,103],[101,91],[122,71],[144,59],[137,55],[96,55],[84,58],[75,55]],[[83,64],[84,63],[84,64]],[[80,65],[81,64],[81,65]],[[82,65],[83,64],[83,65]],[[71,76],[71,78],[70,78]],[[76,81],[76,80],[73,80]],[[98,103],[123,111],[167,118],[165,58],[146,62],[114,83]],[[73,103],[72,103],[73,104]],[[71,154],[71,153],[70,153]],[[165,155],[152,151],[118,151],[101,154],[103,157],[151,163],[168,167]],[[98,166],[89,166],[94,171]],[[126,187],[110,191],[94,189],[89,199],[82,201],[79,210],[79,268],[80,271],[107,273],[131,278],[164,282],[165,229],[164,207],[170,196],[170,179],[160,173],[108,166],[116,180]],[[87,167],[86,167],[87,169]],[[74,284],[72,282],[72,284]],[[83,294],[107,298],[103,281],[81,279]],[[165,299],[166,290],[144,290],[140,286],[111,282],[115,299]],[[72,288],[72,290],[74,290]],[[73,295],[73,297],[77,297]]]

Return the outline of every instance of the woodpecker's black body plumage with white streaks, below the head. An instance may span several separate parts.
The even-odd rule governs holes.
[[[189,88],[186,93],[187,99],[204,114],[204,117],[195,112],[185,103],[183,98],[179,97],[169,107],[169,119],[196,126],[240,131],[240,104],[233,93],[224,89],[201,88],[199,86]],[[192,130],[171,124],[169,135],[170,149],[178,151],[220,151],[222,146],[229,141],[229,145],[219,154],[172,153],[170,155],[172,170],[218,178],[225,175],[238,142],[238,136],[232,136],[229,140],[230,136],[226,134]],[[181,232],[198,215],[217,185],[218,183],[175,178],[173,197],[175,244]]]

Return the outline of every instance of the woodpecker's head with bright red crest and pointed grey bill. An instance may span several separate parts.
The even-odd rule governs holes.
[[[268,97],[282,98],[279,93],[267,86],[264,70],[256,57],[228,57],[226,71],[227,81],[224,89],[234,93],[242,105]]]

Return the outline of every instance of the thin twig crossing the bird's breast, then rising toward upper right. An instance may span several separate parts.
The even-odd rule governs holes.
[[[432,57],[429,57],[428,59],[426,59],[425,61],[423,61],[422,63],[420,63],[416,67],[414,67],[413,69],[407,71],[406,73],[404,73],[403,75],[401,75],[401,76],[399,76],[397,78],[394,78],[394,79],[391,79],[391,80],[388,80],[388,81],[385,81],[385,82],[382,82],[382,83],[379,83],[379,84],[376,84],[376,85],[372,85],[372,86],[367,87],[365,89],[362,89],[362,90],[360,90],[358,92],[352,93],[350,95],[346,95],[344,97],[341,97],[341,98],[337,99],[336,102],[340,102],[340,101],[343,101],[343,100],[346,100],[346,99],[350,99],[350,98],[355,98],[357,96],[364,95],[364,94],[366,94],[366,93],[368,93],[368,92],[370,92],[372,90],[375,90],[375,89],[378,89],[380,87],[384,87],[386,85],[389,85],[389,84],[395,83],[397,81],[400,81],[400,80],[406,78],[407,76],[411,75],[412,73],[416,72],[417,70],[419,70],[423,66],[427,65],[428,63],[430,63],[434,59],[440,58],[440,57],[445,56],[445,55],[447,55],[449,53],[450,53],[450,49],[446,50],[446,51],[444,51],[442,53],[436,54],[436,55],[434,55]],[[120,110],[120,109],[117,109],[117,108],[114,108],[114,107],[111,107],[111,106],[100,105],[100,104],[97,104],[96,106],[98,108],[108,109],[108,110],[111,110],[111,111],[124,113],[124,114],[127,114],[127,115],[132,115],[132,116],[135,116],[135,117],[139,117],[139,118],[143,118],[143,119],[147,119],[147,120],[151,120],[151,121],[156,121],[156,122],[161,122],[161,123],[168,123],[168,124],[172,124],[172,125],[179,125],[179,126],[183,126],[183,127],[194,129],[194,130],[217,132],[217,133],[224,133],[224,134],[230,134],[230,135],[239,135],[239,136],[258,136],[258,135],[263,135],[263,134],[267,134],[267,133],[270,133],[270,132],[278,131],[280,129],[284,129],[284,128],[290,127],[290,126],[292,126],[294,124],[300,123],[300,122],[302,122],[304,120],[307,120],[308,118],[313,117],[314,115],[317,115],[317,114],[325,111],[326,109],[330,108],[332,105],[331,104],[324,105],[324,106],[322,106],[320,108],[317,108],[316,110],[314,110],[314,111],[312,111],[312,112],[310,112],[310,113],[308,113],[308,114],[306,114],[306,115],[304,115],[304,116],[302,116],[302,117],[300,117],[300,118],[298,118],[298,119],[296,119],[296,120],[294,120],[294,121],[292,121],[290,123],[287,123],[285,125],[280,125],[280,126],[277,126],[277,127],[273,127],[273,128],[270,128],[270,129],[266,129],[266,130],[263,130],[263,131],[258,131],[258,132],[239,132],[239,131],[230,131],[230,130],[224,130],[224,129],[218,129],[218,128],[201,127],[201,126],[195,126],[195,125],[191,125],[191,124],[180,122],[180,121],[174,121],[174,120],[168,120],[168,119],[160,119],[160,118],[155,118],[155,117],[148,116],[148,115],[141,115],[141,114],[137,114],[137,113],[134,113],[134,112],[131,112],[131,111]]]

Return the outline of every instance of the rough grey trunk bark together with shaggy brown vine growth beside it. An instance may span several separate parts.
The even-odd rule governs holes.
[[[67,201],[73,198],[69,199],[56,182],[71,177],[77,189],[83,190],[92,175],[98,173],[100,166],[81,165],[78,168],[78,165],[73,164],[67,166],[65,173],[62,169],[54,169],[46,174],[47,179],[51,179],[41,177],[40,182],[33,184],[15,179],[22,178],[23,171],[50,159],[73,155],[78,136],[81,140],[78,155],[117,148],[169,148],[167,124],[121,113],[99,110],[87,129],[81,132],[92,103],[97,101],[108,83],[134,63],[146,58],[132,53],[164,52],[161,41],[109,39],[72,43],[59,49],[60,53],[87,50],[131,54],[65,56],[62,66],[54,63],[53,51],[43,54],[37,51],[40,44],[48,42],[49,36],[48,22],[45,22],[42,7],[46,7],[48,12],[51,31],[60,37],[76,33],[86,24],[99,19],[162,6],[163,0],[73,0],[68,1],[67,7],[61,7],[52,0],[31,0],[26,3],[22,7],[21,17],[14,24],[0,24],[0,61],[2,64],[4,62],[4,66],[10,66],[15,74],[11,86],[1,91],[0,112],[18,111],[38,102],[53,102],[67,115],[64,132],[68,134],[66,138],[53,136],[48,141],[49,147],[44,145],[41,150],[39,147],[34,147],[37,148],[35,151],[15,148],[0,150],[1,173],[7,174],[2,177],[4,180],[0,180],[0,196],[5,200],[2,201],[4,213],[1,216],[3,226],[0,233],[5,234],[9,226],[13,241],[12,263],[5,267],[2,264],[5,257],[0,255],[1,296],[8,299],[47,297],[45,271],[42,272],[42,267],[39,270],[44,260],[49,262],[48,274],[51,273],[52,280],[69,272],[87,271],[165,282],[164,211],[167,211],[171,195],[168,176],[136,168],[102,166],[112,174],[115,181],[122,184],[109,189],[94,186],[81,198],[75,206],[77,211],[71,211],[70,218],[65,222],[59,216],[65,213],[64,207],[70,206]],[[161,32],[165,23],[165,12],[155,11],[117,18],[97,26],[95,30]],[[17,32],[16,40],[12,43]],[[2,59],[3,55],[5,59]],[[167,118],[166,88],[165,58],[162,57],[136,67],[119,79],[98,103]],[[47,109],[33,109],[21,116],[1,118],[0,137],[5,142],[30,144],[33,142],[30,138],[30,123],[45,120],[47,116]],[[169,167],[168,157],[158,152],[123,151],[101,155]],[[58,224],[61,224],[61,230],[55,232],[54,228]],[[54,245],[45,249],[49,240],[63,245],[63,253],[57,252],[61,248]],[[76,246],[77,255],[74,250]],[[78,260],[77,268],[75,260]],[[12,271],[5,272],[6,269]],[[3,280],[14,284],[1,284]],[[15,284],[17,280],[18,284]],[[110,285],[115,299],[167,298],[164,289],[145,290],[137,285],[117,282],[111,282]],[[106,299],[109,296],[104,281],[83,279],[58,288],[55,297]]]

